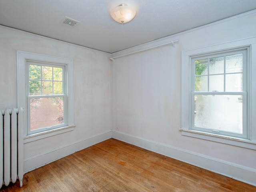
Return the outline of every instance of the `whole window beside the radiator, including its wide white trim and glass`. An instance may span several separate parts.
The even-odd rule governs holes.
[[[72,60],[17,51],[17,85],[25,142],[74,129]]]

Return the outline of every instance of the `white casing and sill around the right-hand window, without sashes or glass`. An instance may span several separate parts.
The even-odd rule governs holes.
[[[248,48],[247,54],[247,127],[248,137],[238,138],[236,136],[226,136],[222,134],[214,134],[200,130],[191,129],[192,125],[192,58],[199,55],[210,55],[216,52],[225,52],[228,50]],[[241,146],[245,148],[256,150],[256,37],[250,37],[242,40],[216,44],[212,46],[186,50],[182,52],[182,89],[181,89],[181,133],[184,136],[191,136],[195,138],[221,142],[225,144]]]

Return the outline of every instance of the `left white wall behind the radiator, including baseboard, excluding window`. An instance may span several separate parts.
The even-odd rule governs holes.
[[[70,132],[25,143],[25,172],[111,137],[109,54],[0,26],[0,109],[17,107],[16,50],[74,62],[76,127]]]

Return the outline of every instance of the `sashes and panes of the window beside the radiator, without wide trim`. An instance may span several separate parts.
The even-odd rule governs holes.
[[[28,134],[67,126],[66,65],[26,60]]]

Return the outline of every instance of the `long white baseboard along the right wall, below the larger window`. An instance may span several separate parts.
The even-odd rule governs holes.
[[[113,130],[112,138],[256,186],[255,169],[193,153],[191,151],[181,150],[173,146],[146,140],[119,131]]]

